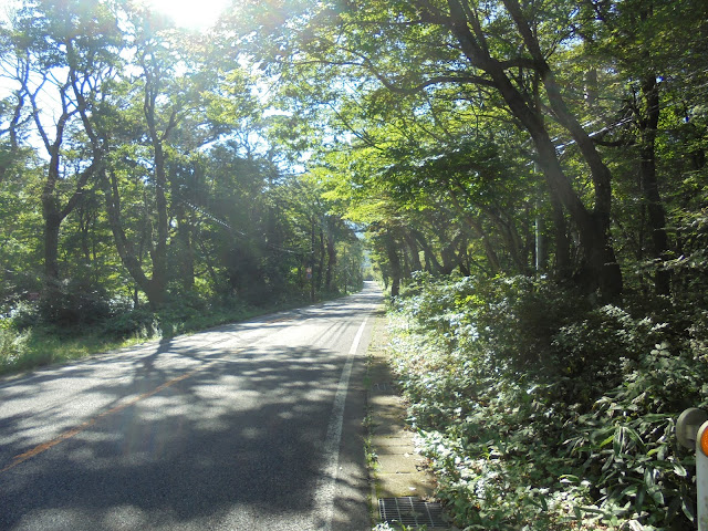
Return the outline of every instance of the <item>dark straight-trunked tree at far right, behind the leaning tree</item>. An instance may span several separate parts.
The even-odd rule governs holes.
[[[701,35],[706,32],[706,7],[691,1],[677,4],[626,0],[615,2],[612,9],[600,2],[589,2],[583,9],[585,20],[580,33],[586,42],[585,54],[595,60],[597,70],[613,71],[624,83],[624,91],[618,94],[624,103],[623,115],[617,117],[623,125],[607,132],[601,142],[620,146],[623,156],[629,153],[636,159],[642,220],[637,229],[638,254],[643,260],[655,261],[655,291],[668,295],[670,275],[663,264],[675,249],[663,197],[668,190],[662,184],[663,178],[670,177],[662,176],[658,153],[663,137],[668,138],[660,129],[676,126],[669,125],[666,116],[671,114],[670,100],[676,97],[671,85],[680,77],[694,76],[695,70],[689,73],[686,66],[695,69],[702,61],[699,56],[705,49]],[[679,56],[683,60],[677,61]],[[646,243],[644,232],[648,232]]]

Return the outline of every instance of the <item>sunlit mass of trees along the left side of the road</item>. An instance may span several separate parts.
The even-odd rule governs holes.
[[[18,3],[0,43],[3,313],[73,326],[361,282],[357,228],[225,43],[131,2]]]

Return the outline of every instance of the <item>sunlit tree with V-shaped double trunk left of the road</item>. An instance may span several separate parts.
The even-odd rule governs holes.
[[[104,196],[108,221],[114,235],[116,248],[124,267],[135,280],[136,284],[147,295],[153,308],[166,302],[168,285],[168,247],[170,241],[169,227],[169,188],[170,179],[168,166],[170,157],[179,158],[177,153],[197,149],[206,142],[199,129],[192,129],[192,136],[183,135],[181,146],[176,146],[177,128],[188,121],[195,123],[195,116],[204,114],[204,107],[198,105],[201,80],[196,74],[199,70],[198,55],[191,53],[188,39],[173,29],[163,28],[159,19],[150,18],[149,13],[131,13],[133,28],[133,52],[136,65],[139,67],[137,77],[123,81],[123,95],[114,105],[114,116],[110,122],[98,124],[95,129],[95,144],[101,152],[114,153],[113,165],[107,168],[103,178]],[[177,71],[184,70],[177,76]],[[127,102],[127,111],[118,111],[117,105]],[[129,126],[117,126],[116,119],[128,118]],[[127,134],[127,137],[116,137],[116,131]],[[137,134],[137,136],[135,136]],[[197,139],[200,138],[200,139]],[[116,150],[114,145],[123,145]],[[131,148],[127,148],[132,144]],[[171,154],[171,149],[177,149]],[[176,165],[174,165],[176,167]],[[128,174],[139,175],[145,189],[146,219],[139,243],[136,246],[125,227],[122,214],[121,179]],[[123,176],[123,177],[122,177]],[[147,188],[149,195],[147,195]],[[174,187],[173,187],[174,188]],[[184,198],[178,198],[181,208]],[[179,216],[180,236],[186,247],[186,253],[191,252],[188,240],[186,219]],[[150,214],[148,214],[150,212]],[[155,212],[153,218],[152,212]],[[184,229],[184,230],[183,230]],[[143,250],[149,257],[149,268],[143,264]],[[187,259],[187,263],[190,259]],[[192,270],[192,266],[187,266]],[[183,270],[184,272],[184,270]],[[183,277],[183,280],[184,277]],[[185,285],[191,285],[187,279]]]

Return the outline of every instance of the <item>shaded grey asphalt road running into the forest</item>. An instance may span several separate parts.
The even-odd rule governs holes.
[[[0,530],[368,528],[373,284],[0,381]]]

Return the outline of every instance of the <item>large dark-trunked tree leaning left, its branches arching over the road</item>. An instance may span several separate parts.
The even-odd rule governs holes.
[[[454,86],[478,92],[478,107],[503,105],[534,146],[548,194],[569,214],[580,236],[579,282],[591,291],[600,288],[607,298],[622,291],[610,239],[612,176],[581,125],[581,113],[561,90],[562,65],[552,61],[559,49],[573,45],[572,32],[559,34],[555,29],[573,19],[574,4],[546,9],[522,8],[516,0],[372,0],[288,6],[294,11],[293,31],[271,35],[262,50],[272,54],[283,75],[304,69],[323,80],[345,79],[360,92],[383,86],[400,97]],[[284,12],[291,11],[277,9],[258,19],[261,31],[269,31]],[[340,84],[346,94],[346,83]],[[581,174],[569,175],[561,163],[553,142],[561,133],[570,137],[590,176],[583,183],[592,191],[589,206],[576,184]]]

